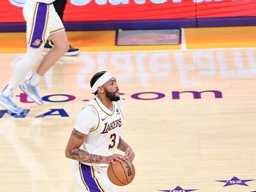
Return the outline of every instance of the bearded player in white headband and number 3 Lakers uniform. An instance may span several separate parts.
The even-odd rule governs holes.
[[[94,74],[91,87],[96,98],[78,114],[65,153],[74,160],[72,172],[81,191],[115,192],[107,176],[108,164],[134,159],[133,149],[120,136],[123,100],[116,79],[109,72]],[[125,155],[116,154],[116,149]]]

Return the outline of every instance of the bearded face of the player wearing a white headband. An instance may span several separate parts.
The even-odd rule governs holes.
[[[111,78],[111,80],[105,83],[104,91],[105,91],[106,97],[109,98],[109,100],[111,101],[120,100],[119,87],[118,87],[118,84],[116,83],[115,78]]]

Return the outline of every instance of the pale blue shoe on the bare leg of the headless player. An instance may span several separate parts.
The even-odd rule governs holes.
[[[43,105],[43,100],[39,96],[37,86],[30,85],[29,81],[26,80],[23,83],[19,84],[19,88],[21,88],[21,90],[25,92],[25,94],[27,94],[27,96],[29,96],[30,99],[33,100],[35,103],[37,103],[38,105]]]

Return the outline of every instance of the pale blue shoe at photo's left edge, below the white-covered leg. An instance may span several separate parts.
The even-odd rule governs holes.
[[[3,96],[3,92],[0,92],[0,105],[5,107],[8,111],[15,114],[21,114],[24,110],[21,107],[18,107],[12,96]]]

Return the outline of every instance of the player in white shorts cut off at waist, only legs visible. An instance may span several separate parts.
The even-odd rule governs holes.
[[[37,92],[37,85],[41,77],[69,50],[65,28],[52,2],[54,0],[27,0],[23,7],[23,16],[27,22],[27,52],[17,63],[5,89],[0,92],[0,104],[12,113],[23,112],[23,109],[14,103],[12,95],[17,85],[41,59],[47,38],[49,37],[54,42],[54,48],[45,54],[31,78],[19,85],[21,90],[38,105],[43,105],[43,100]]]

